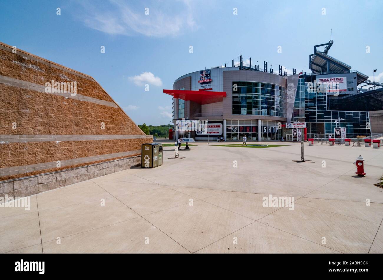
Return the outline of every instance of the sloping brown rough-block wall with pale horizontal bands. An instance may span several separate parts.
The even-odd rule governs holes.
[[[52,80],[76,82],[75,94],[47,90]],[[0,104],[0,181],[137,156],[152,142],[91,76],[1,42]]]

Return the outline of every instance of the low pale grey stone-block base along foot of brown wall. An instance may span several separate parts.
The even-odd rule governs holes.
[[[141,156],[0,182],[0,196],[25,197],[141,165]]]

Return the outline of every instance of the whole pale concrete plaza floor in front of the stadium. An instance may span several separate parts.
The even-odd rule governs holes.
[[[306,142],[314,163],[296,163],[299,143],[259,144],[288,146],[196,143],[183,159],[164,147],[160,167],[31,196],[29,211],[2,207],[0,252],[383,253],[383,149]],[[294,197],[293,210],[264,207],[270,195]]]

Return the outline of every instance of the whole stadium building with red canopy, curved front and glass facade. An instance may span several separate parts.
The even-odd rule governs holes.
[[[328,55],[332,44],[331,40],[314,46],[309,55],[312,73],[297,74],[293,69],[287,74],[282,65],[274,73],[266,61],[260,69],[251,58],[244,64],[241,56],[236,65],[232,60],[231,67],[225,64],[185,74],[175,80],[173,89],[164,89],[173,97],[173,123],[208,120],[209,137],[227,140],[246,135],[253,141],[292,141],[293,132],[286,123],[304,123],[304,139],[329,138],[335,127],[346,128],[347,138],[370,136],[374,128],[369,108],[354,100],[362,94],[379,99],[383,84],[369,81],[367,75]],[[324,50],[319,51],[320,47]],[[362,84],[375,90],[363,90]],[[208,137],[200,131],[176,131],[178,135],[196,140]]]

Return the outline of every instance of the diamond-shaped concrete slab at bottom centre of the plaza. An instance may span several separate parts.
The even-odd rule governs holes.
[[[190,252],[254,222],[205,201],[195,201],[193,206],[182,205],[145,218]]]

